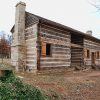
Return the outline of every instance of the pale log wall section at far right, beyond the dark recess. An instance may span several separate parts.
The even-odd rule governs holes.
[[[90,57],[86,57],[86,50],[89,50]],[[99,52],[99,58],[97,58],[97,52]],[[92,65],[92,53],[94,53],[94,62],[96,65],[100,65],[100,43],[84,39],[84,63],[85,65]]]

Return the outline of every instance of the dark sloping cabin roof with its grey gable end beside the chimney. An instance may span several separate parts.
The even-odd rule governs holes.
[[[100,39],[97,39],[93,36],[90,36],[88,34],[85,34],[84,32],[81,32],[81,31],[78,31],[78,30],[75,30],[73,28],[70,28],[68,26],[65,26],[65,25],[62,25],[62,24],[59,24],[57,22],[54,22],[54,21],[51,21],[51,20],[48,20],[46,18],[43,18],[43,17],[40,17],[40,16],[37,16],[35,14],[32,14],[32,13],[29,13],[29,12],[26,12],[26,15],[25,15],[25,27],[29,27],[29,26],[32,26],[34,23],[36,22],[39,22],[39,23],[44,23],[44,24],[48,24],[48,25],[51,25],[53,27],[57,27],[57,28],[60,28],[60,29],[63,29],[65,31],[69,31],[71,34],[76,34],[76,35],[80,35],[80,36],[83,36],[87,39],[92,39],[93,41],[97,41],[97,42],[100,42]],[[11,32],[14,31],[14,26],[13,28],[11,29]]]

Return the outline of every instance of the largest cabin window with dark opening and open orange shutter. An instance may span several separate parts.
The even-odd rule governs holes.
[[[51,44],[42,42],[41,56],[51,56]]]

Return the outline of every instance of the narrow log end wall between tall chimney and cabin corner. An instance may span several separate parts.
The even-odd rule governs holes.
[[[25,29],[26,69],[28,71],[37,70],[37,31],[37,24]]]

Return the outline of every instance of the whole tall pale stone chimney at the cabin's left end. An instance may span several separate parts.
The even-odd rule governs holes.
[[[25,7],[24,2],[19,2],[16,5],[11,61],[17,71],[22,71],[25,66]]]

